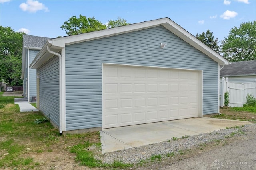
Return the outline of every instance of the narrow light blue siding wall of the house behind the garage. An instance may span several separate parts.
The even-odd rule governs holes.
[[[29,50],[29,65],[32,63],[38,50]],[[36,69],[29,68],[29,101],[32,102],[32,96],[36,96]]]

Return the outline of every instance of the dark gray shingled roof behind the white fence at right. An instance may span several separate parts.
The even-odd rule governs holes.
[[[256,75],[256,60],[234,62],[220,70],[222,77],[253,75]]]

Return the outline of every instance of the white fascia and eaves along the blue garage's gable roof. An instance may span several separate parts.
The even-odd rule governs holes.
[[[104,37],[110,37],[110,36],[129,33],[133,31],[139,31],[142,29],[157,27],[160,25],[164,26],[170,32],[174,33],[175,35],[177,35],[178,37],[180,37],[181,39],[183,39],[184,41],[186,41],[187,43],[189,43],[199,51],[202,51],[202,53],[206,54],[208,57],[212,58],[214,61],[216,61],[220,65],[228,64],[228,61],[224,59],[220,54],[216,53],[210,47],[208,47],[207,45],[202,43],[200,40],[198,40],[194,35],[190,34],[188,31],[180,27],[174,21],[170,20],[170,18],[160,18],[157,20],[134,23],[134,24],[125,25],[121,27],[114,27],[114,28],[104,29],[100,31],[93,31],[89,33],[70,35],[66,37],[60,37],[60,38],[48,40],[44,44],[44,47],[42,47],[42,50],[38,53],[34,61],[30,64],[30,68],[38,68],[39,66],[44,64],[46,61],[48,61],[51,57],[53,57],[53,55],[47,51],[47,47],[48,48],[50,47],[51,51],[59,52],[66,45],[80,43],[84,41],[90,41],[94,39],[100,39]]]

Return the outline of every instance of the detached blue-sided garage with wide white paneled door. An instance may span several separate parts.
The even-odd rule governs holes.
[[[38,108],[66,134],[219,113],[225,64],[162,18],[48,40],[30,67]]]

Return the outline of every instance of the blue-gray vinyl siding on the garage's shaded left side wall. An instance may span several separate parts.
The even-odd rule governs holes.
[[[39,109],[44,115],[50,114],[59,126],[59,59],[53,57],[37,69],[39,73]]]

